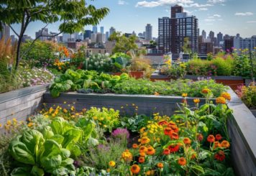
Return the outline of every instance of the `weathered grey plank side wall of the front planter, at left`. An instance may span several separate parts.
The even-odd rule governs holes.
[[[43,94],[48,85],[36,85],[17,91],[0,94],[0,134],[4,130],[6,121],[16,118],[24,121],[42,103]]]

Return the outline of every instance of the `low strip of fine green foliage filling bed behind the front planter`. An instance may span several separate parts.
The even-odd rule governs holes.
[[[122,83],[117,83],[113,91],[114,93],[124,94],[146,94],[154,95],[159,93],[163,96],[180,96],[182,93],[188,93],[191,97],[202,97],[201,90],[203,88],[209,88],[214,93],[214,97],[217,97],[221,92],[227,88],[224,85],[215,83],[214,80],[198,80],[192,82],[191,80],[173,80],[171,82],[150,80],[135,80],[129,79]]]

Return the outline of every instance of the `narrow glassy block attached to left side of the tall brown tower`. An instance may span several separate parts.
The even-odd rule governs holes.
[[[142,33],[139,34],[141,36]],[[170,52],[170,18],[158,19],[158,50],[162,53]]]

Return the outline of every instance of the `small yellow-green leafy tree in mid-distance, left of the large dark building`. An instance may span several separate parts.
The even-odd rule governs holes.
[[[121,34],[121,32],[114,32],[109,36],[109,41],[116,42],[113,52],[126,53],[129,50],[136,50],[138,48],[135,43],[136,40],[137,40],[137,37],[135,35],[125,37],[125,35]]]

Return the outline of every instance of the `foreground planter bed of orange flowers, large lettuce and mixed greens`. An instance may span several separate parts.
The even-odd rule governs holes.
[[[112,108],[76,111],[70,104],[43,108],[25,123],[7,121],[0,169],[13,175],[234,175],[225,105],[230,96],[222,93],[214,105],[211,91],[202,93],[207,103],[194,99],[191,107],[183,93],[180,112],[172,116],[137,115],[140,107],[132,105],[134,115],[121,117]],[[138,141],[129,138],[134,132]]]

